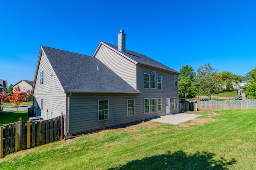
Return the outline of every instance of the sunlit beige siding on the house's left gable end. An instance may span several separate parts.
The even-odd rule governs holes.
[[[42,70],[44,70],[44,83],[40,84],[40,72]],[[35,108],[36,104],[38,104],[41,109],[41,99],[44,101],[43,109],[41,109],[41,116],[44,119],[57,117],[61,113],[66,114],[66,94],[63,92],[44,53],[40,60],[33,95],[33,105]]]

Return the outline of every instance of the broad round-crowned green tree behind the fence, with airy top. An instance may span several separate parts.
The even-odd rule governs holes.
[[[211,95],[221,92],[221,86],[216,74],[215,68],[211,64],[200,65],[197,75],[194,77],[194,92],[197,96],[208,96],[211,100]]]

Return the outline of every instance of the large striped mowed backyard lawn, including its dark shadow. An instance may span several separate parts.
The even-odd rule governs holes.
[[[0,169],[256,169],[255,113],[198,111],[178,125],[146,121],[9,154]]]

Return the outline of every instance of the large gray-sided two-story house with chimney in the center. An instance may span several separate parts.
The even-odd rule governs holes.
[[[178,71],[100,42],[93,56],[41,46],[32,93],[37,115],[65,115],[66,135],[178,113]]]

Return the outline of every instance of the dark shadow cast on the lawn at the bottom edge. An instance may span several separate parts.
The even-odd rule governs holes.
[[[142,160],[134,160],[109,170],[228,170],[230,165],[236,163],[234,159],[230,161],[225,158],[215,160],[214,155],[209,152],[197,152],[195,154],[187,154],[184,151],[168,152],[146,157]]]

